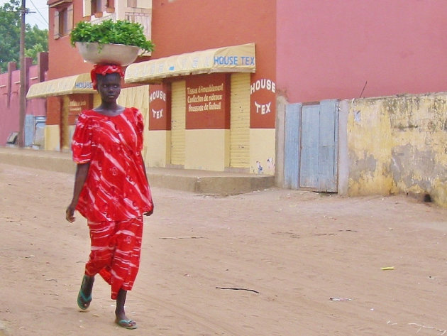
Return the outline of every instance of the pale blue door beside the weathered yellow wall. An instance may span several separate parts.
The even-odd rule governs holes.
[[[285,114],[285,186],[336,192],[338,102],[290,104]]]

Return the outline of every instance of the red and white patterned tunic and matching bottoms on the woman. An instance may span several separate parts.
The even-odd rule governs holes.
[[[138,273],[143,213],[153,210],[143,159],[143,116],[126,108],[117,116],[79,115],[73,160],[90,163],[76,210],[87,218],[92,251],[85,273],[111,284],[111,298],[128,291]]]

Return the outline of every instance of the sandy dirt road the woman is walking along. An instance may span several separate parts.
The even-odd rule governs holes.
[[[0,335],[447,335],[447,210],[404,196],[153,188],[126,303],[138,329],[114,325],[101,278],[81,313],[72,182],[0,163]]]

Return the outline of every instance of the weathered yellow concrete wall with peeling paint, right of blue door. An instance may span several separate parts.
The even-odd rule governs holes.
[[[429,195],[447,207],[447,93],[346,101],[348,195]]]

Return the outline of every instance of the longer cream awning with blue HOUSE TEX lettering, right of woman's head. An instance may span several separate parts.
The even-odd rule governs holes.
[[[248,43],[133,63],[128,65],[124,81],[151,83],[175,76],[255,71],[255,43]]]

